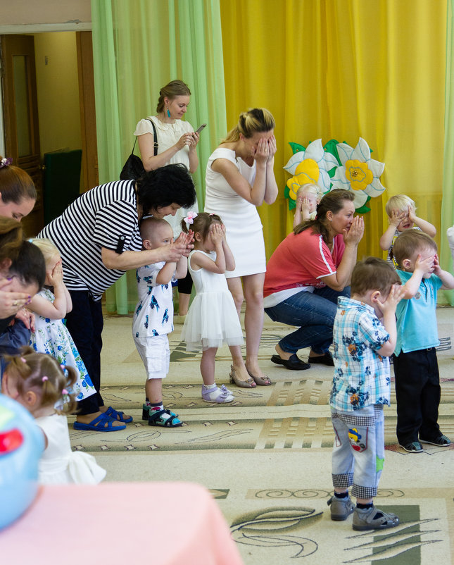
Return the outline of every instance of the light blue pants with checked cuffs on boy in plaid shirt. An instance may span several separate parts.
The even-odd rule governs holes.
[[[384,414],[382,404],[353,412],[332,409],[334,488],[350,488],[356,498],[377,496],[384,464]],[[352,486],[353,485],[353,486]]]

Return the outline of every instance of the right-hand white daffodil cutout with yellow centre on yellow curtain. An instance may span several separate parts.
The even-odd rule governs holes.
[[[361,208],[367,197],[377,197],[384,191],[380,176],[384,163],[370,159],[369,145],[360,137],[355,149],[346,143],[337,144],[342,165],[336,168],[332,178],[332,190],[344,188],[355,194],[355,209]]]

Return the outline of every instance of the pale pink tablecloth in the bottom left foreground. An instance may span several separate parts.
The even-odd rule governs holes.
[[[0,531],[0,561],[14,565],[241,565],[209,492],[192,483],[43,487]]]

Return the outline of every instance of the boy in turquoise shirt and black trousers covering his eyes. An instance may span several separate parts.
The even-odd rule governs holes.
[[[436,292],[453,289],[454,277],[440,267],[434,240],[415,230],[398,236],[393,254],[404,285],[398,304],[397,342],[393,356],[396,376],[397,438],[409,453],[421,453],[421,443],[448,447],[438,418],[441,397],[436,346]]]

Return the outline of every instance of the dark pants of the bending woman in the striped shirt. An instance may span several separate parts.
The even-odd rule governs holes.
[[[101,302],[94,302],[87,290],[70,290],[72,311],[66,316],[66,327],[84,361],[96,394],[77,403],[77,414],[93,414],[104,402],[101,388],[101,349],[103,341],[103,312]]]

